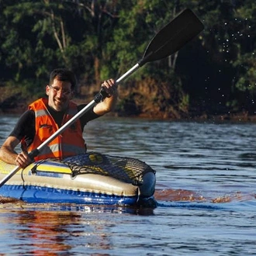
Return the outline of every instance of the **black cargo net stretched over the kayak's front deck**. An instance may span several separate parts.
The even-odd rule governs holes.
[[[72,175],[96,174],[117,178],[133,185],[143,183],[143,175],[155,171],[143,161],[90,152],[61,160],[71,168]]]

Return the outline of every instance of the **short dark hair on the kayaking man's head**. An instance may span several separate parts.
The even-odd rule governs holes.
[[[72,90],[74,90],[77,83],[74,73],[66,68],[56,68],[50,73],[50,85],[54,83],[55,78],[57,78],[58,81],[70,81]]]

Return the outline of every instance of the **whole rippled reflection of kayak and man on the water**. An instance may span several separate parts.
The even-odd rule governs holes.
[[[0,221],[12,223],[9,228],[5,227],[5,233],[12,235],[10,251],[24,255],[59,255],[72,254],[72,251],[83,253],[85,248],[111,249],[109,229],[116,226],[116,214],[150,216],[153,209],[19,203],[13,207],[7,203],[1,207]],[[17,246],[16,240],[24,243],[19,242]]]

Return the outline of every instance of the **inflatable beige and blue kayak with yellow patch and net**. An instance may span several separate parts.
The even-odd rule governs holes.
[[[16,168],[0,160],[0,178]],[[29,203],[156,206],[155,171],[143,161],[90,152],[19,170],[0,195]]]

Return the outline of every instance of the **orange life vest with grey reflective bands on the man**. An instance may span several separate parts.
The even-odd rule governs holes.
[[[29,109],[35,112],[36,134],[29,150],[34,150],[58,130],[57,123],[47,110],[47,99],[38,99],[29,105]],[[70,102],[69,108],[64,114],[62,125],[67,123],[78,112],[77,105]],[[46,158],[64,158],[77,154],[85,154],[85,140],[82,137],[81,123],[78,119],[64,132],[58,135],[47,146],[40,150],[40,154],[34,157],[35,161]]]

